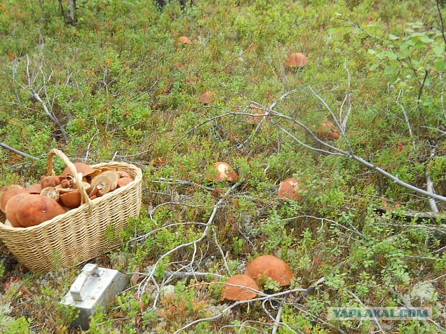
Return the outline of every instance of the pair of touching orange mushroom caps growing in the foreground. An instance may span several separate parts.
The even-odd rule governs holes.
[[[243,275],[235,275],[224,283],[222,288],[223,299],[229,301],[249,301],[255,298],[259,291],[260,278],[272,278],[279,286],[290,285],[293,272],[284,260],[274,255],[256,257],[246,267]]]

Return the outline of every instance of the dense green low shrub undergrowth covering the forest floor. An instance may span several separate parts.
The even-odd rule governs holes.
[[[0,186],[38,180],[51,148],[72,161],[114,159],[144,171],[141,217],[130,221],[120,249],[94,259],[138,271],[140,280],[93,317],[89,333],[173,333],[214,317],[229,302],[213,282],[263,254],[290,264],[293,288],[325,283],[299,303],[298,294],[281,299],[277,328],[278,303],[257,301],[185,332],[444,331],[445,202],[436,202],[437,218],[417,218],[413,212],[433,210],[425,196],[348,157],[305,148],[295,139],[323,146],[293,122],[316,130],[334,121],[314,90],[340,120],[351,109],[348,143],[331,145],[350,146],[420,189],[429,175],[445,196],[444,1],[199,0],[181,10],[175,2],[78,0],[76,15],[67,26],[57,1],[0,4],[0,142],[38,158],[0,150]],[[176,44],[181,35],[192,45]],[[308,64],[284,67],[291,52]],[[211,104],[199,102],[205,91]],[[272,116],[256,127],[237,114],[275,102],[291,120]],[[243,182],[196,247],[181,247],[203,235],[219,194],[233,185],[203,179],[215,161],[230,163]],[[300,180],[301,200],[277,198],[287,177]],[[70,331],[72,312],[59,301],[79,268],[33,274],[6,246],[0,252],[2,333]],[[173,285],[174,294],[155,299],[154,283],[144,280],[141,292],[155,263],[155,282]],[[167,279],[184,266],[208,274]],[[411,303],[433,315],[327,319],[330,306],[360,303]]]

